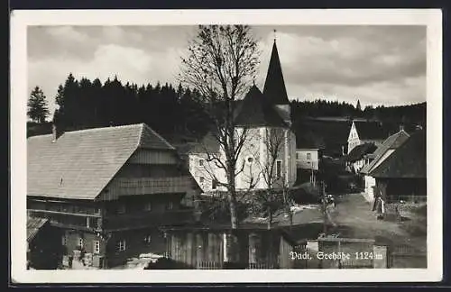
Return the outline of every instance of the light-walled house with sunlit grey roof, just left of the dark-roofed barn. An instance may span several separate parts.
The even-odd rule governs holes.
[[[376,186],[376,179],[373,178],[370,173],[373,169],[377,168],[381,163],[386,160],[390,155],[409,139],[409,133],[400,128],[399,132],[392,134],[389,138],[382,142],[382,145],[378,147],[373,153],[373,158],[369,159],[363,169],[360,169],[360,173],[364,176],[364,192],[369,196],[371,200],[374,199],[374,187]]]

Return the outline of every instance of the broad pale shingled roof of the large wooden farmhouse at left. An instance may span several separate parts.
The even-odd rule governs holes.
[[[94,199],[138,148],[175,150],[144,123],[27,140],[27,195]]]

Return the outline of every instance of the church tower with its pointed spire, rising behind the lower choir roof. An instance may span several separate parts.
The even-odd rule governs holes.
[[[283,121],[291,125],[290,102],[288,100],[287,89],[285,88],[285,81],[283,80],[281,60],[279,59],[275,39],[272,45],[270,66],[268,67],[268,73],[264,83],[263,95],[267,96],[278,114],[283,118]]]

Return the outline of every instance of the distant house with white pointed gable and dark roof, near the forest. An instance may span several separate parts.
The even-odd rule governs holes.
[[[347,138],[347,154],[355,146],[364,143],[373,143],[380,146],[390,136],[391,127],[381,122],[357,122],[353,121]]]

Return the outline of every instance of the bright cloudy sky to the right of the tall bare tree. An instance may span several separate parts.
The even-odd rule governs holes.
[[[423,27],[309,26],[278,31],[281,67],[291,98],[330,98],[353,104],[360,98],[363,104],[374,105],[426,100]],[[265,51],[261,85],[272,43],[273,33],[266,32],[260,42]]]

